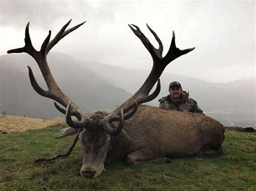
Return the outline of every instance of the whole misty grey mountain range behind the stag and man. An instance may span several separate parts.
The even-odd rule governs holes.
[[[49,53],[48,63],[59,87],[85,112],[111,111],[133,95],[150,73],[150,70],[124,69],[105,63],[76,60],[56,52]],[[2,55],[0,112],[38,118],[62,115],[54,107],[53,100],[38,95],[32,89],[27,65],[32,68],[41,87],[47,89],[37,63],[29,55]],[[172,67],[172,63],[167,67]],[[169,83],[179,81],[183,90],[190,91],[190,97],[198,102],[206,115],[224,125],[255,121],[255,79],[210,83],[193,77],[163,73],[160,81],[159,96],[146,104],[158,106],[158,99],[169,94]]]

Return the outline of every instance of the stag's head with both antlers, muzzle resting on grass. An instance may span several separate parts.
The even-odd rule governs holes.
[[[106,159],[107,149],[111,136],[122,136],[126,138],[127,141],[132,142],[132,139],[123,130],[124,121],[131,118],[136,113],[139,104],[149,102],[158,96],[160,92],[159,77],[161,73],[163,73],[165,67],[172,60],[192,51],[194,48],[188,48],[184,50],[177,48],[175,44],[175,35],[173,32],[171,46],[167,54],[163,57],[163,44],[161,43],[161,40],[158,38],[157,34],[149,27],[149,25],[147,25],[147,27],[153,34],[154,38],[156,38],[159,45],[158,48],[155,48],[150,43],[149,39],[145,37],[145,35],[140,31],[139,27],[136,25],[129,25],[133,33],[142,41],[146,49],[151,54],[153,59],[152,70],[143,83],[142,87],[140,87],[132,97],[130,97],[118,108],[113,110],[110,114],[99,111],[95,112],[91,117],[87,117],[85,113],[58,87],[55,79],[53,79],[46,60],[47,54],[51,48],[58,43],[59,40],[85,23],[84,22],[78,24],[75,27],[66,30],[66,27],[68,27],[70,22],[71,20],[69,20],[69,22],[62,27],[62,29],[51,41],[51,31],[49,31],[49,34],[45,38],[40,51],[36,51],[36,49],[32,46],[28,23],[25,29],[25,46],[22,48],[11,49],[7,53],[28,53],[36,60],[43,74],[48,90],[44,90],[39,87],[33,75],[32,69],[28,66],[29,78],[33,89],[39,95],[51,98],[66,108],[63,109],[59,107],[56,102],[54,103],[55,107],[60,112],[65,114],[66,123],[71,128],[74,128],[76,132],[80,132],[79,139],[82,143],[83,150],[83,166],[80,170],[80,175],[96,178],[103,171],[104,160]],[[149,95],[156,82],[156,90],[154,90],[154,92]],[[71,116],[75,116],[78,119],[78,122],[73,121]],[[113,122],[118,122],[118,124],[115,125]]]

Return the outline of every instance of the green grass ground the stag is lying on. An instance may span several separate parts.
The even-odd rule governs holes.
[[[105,166],[97,179],[79,175],[80,143],[68,158],[34,163],[65,153],[73,137],[54,139],[64,125],[0,135],[0,190],[256,190],[256,135],[226,131],[224,155],[173,159],[170,164]]]

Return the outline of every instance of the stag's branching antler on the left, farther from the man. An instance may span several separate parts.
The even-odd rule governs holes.
[[[72,19],[71,19],[72,20]],[[56,102],[63,105],[63,107],[68,108],[66,111],[62,108],[60,108],[56,103],[55,106],[60,112],[66,112],[66,121],[72,128],[82,128],[86,126],[86,124],[91,123],[91,119],[88,118],[84,112],[73,102],[71,102],[70,98],[66,96],[63,91],[58,87],[55,79],[53,79],[53,76],[51,74],[51,71],[49,69],[46,56],[51,50],[53,46],[55,46],[59,40],[64,38],[67,34],[70,32],[76,30],[79,26],[83,25],[85,22],[78,24],[74,27],[72,27],[69,30],[66,30],[66,27],[70,24],[71,20],[69,20],[68,23],[66,23],[62,29],[56,34],[55,38],[53,38],[50,41],[51,37],[51,31],[49,31],[48,36],[45,38],[40,51],[36,51],[36,49],[33,47],[29,35],[29,23],[26,25],[25,29],[25,46],[22,48],[16,48],[11,49],[7,51],[8,54],[10,53],[28,53],[33,57],[33,59],[36,60],[42,74],[44,77],[44,80],[46,82],[46,85],[49,90],[44,90],[41,87],[39,87],[38,83],[36,82],[35,76],[33,75],[32,69],[29,68],[29,78],[31,85],[33,89],[41,96],[51,98],[52,100],[55,100]],[[66,31],[65,31],[66,30]],[[49,42],[50,41],[50,42]],[[79,122],[73,122],[71,119],[71,115],[76,116]]]

